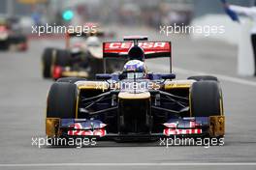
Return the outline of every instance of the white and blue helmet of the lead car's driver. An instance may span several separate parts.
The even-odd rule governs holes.
[[[144,78],[147,69],[144,62],[140,60],[130,60],[124,65],[123,72],[127,74],[127,78]]]

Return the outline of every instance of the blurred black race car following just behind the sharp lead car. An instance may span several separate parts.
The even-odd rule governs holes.
[[[43,76],[58,79],[78,76],[94,78],[95,73],[103,72],[103,52],[101,37],[103,32],[73,33],[66,36],[66,49],[46,48],[42,57]],[[109,71],[120,70],[120,64],[112,62]]]

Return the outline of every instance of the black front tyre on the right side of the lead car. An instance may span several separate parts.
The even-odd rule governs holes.
[[[193,117],[223,114],[222,94],[216,81],[198,81],[190,89],[190,111]]]

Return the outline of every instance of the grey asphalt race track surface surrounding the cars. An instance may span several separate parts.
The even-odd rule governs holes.
[[[148,33],[152,40],[171,40],[144,28],[121,30],[118,37]],[[237,47],[194,42],[185,35],[172,41],[178,79],[202,72],[220,75],[224,146],[167,148],[159,142],[102,142],[80,149],[32,146],[32,137],[45,135],[46,98],[52,83],[42,78],[41,54],[46,46],[64,45],[60,40],[37,40],[30,42],[27,52],[0,52],[0,169],[256,169],[256,78],[237,75]],[[164,60],[147,63],[154,71],[169,69]]]

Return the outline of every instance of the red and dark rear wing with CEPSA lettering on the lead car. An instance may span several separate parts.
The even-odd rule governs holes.
[[[170,72],[172,72],[171,42],[132,42],[133,39],[124,40],[131,42],[103,42],[104,68],[106,68],[106,59],[109,58],[124,58],[129,60],[128,51],[137,43],[144,49],[144,59],[170,58]]]

